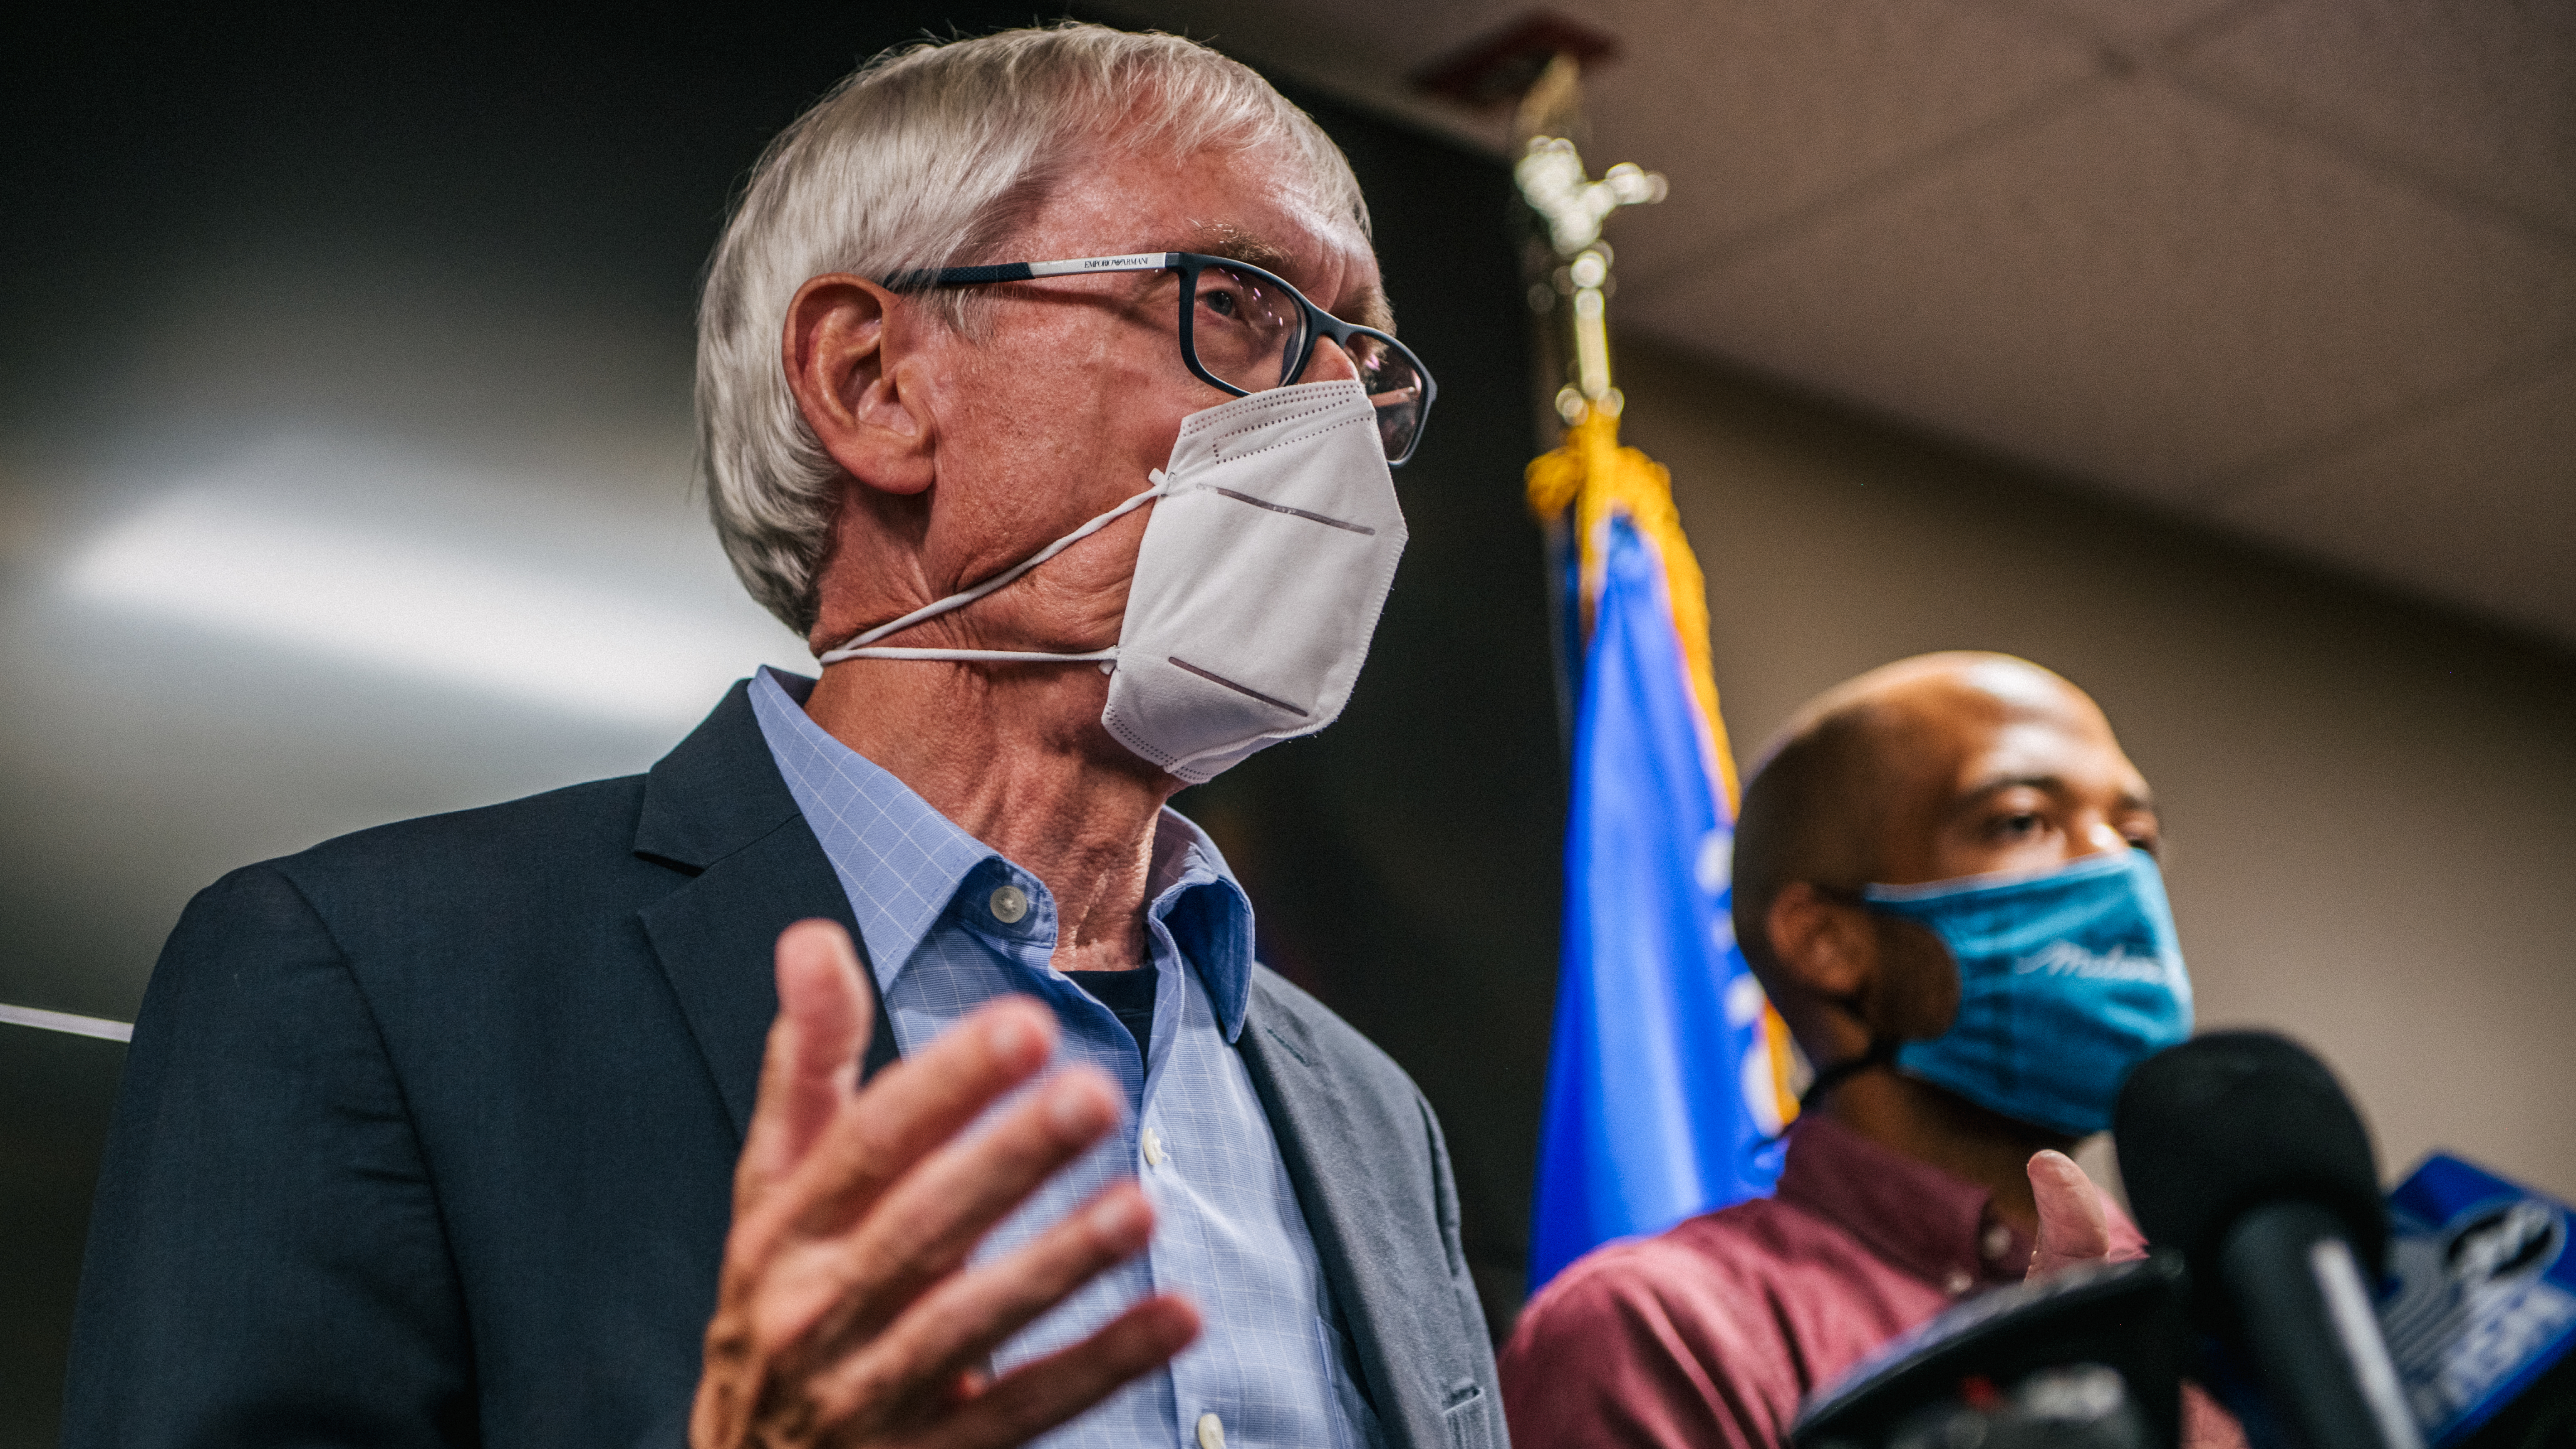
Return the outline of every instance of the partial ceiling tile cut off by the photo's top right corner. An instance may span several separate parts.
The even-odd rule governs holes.
[[[2566,0],[2285,0],[2187,67],[2576,235]]]

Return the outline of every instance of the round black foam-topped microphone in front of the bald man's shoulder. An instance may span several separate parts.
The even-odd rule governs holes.
[[[2334,1073],[2287,1036],[2213,1031],[2130,1073],[2112,1134],[2138,1227],[2182,1250],[2195,1318],[2251,1359],[2277,1428],[2421,1449],[2372,1310],[2380,1173]]]

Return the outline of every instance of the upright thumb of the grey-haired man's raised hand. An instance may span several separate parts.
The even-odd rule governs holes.
[[[796,1168],[858,1085],[871,998],[858,951],[835,920],[778,933],[778,1018],[760,1060],[760,1098],[734,1171],[734,1214]]]

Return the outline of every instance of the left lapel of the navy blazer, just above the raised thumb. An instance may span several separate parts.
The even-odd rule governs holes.
[[[876,1075],[894,1060],[850,897],[778,776],[747,681],[644,776],[634,853],[690,877],[639,918],[734,1132],[750,1129],[778,1016],[773,946],[796,920],[822,915],[850,933],[876,1008],[860,1073]]]

